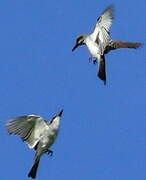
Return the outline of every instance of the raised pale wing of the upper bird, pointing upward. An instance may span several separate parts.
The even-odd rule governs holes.
[[[105,9],[97,19],[97,24],[92,33],[93,40],[99,45],[103,55],[107,42],[110,39],[110,27],[114,19],[114,7],[111,5]]]

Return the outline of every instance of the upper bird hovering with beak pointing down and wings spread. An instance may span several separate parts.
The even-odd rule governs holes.
[[[89,60],[93,60],[95,64],[98,62],[99,70],[97,76],[106,84],[106,64],[105,54],[111,50],[120,48],[139,48],[142,43],[138,42],[124,42],[118,40],[111,40],[110,27],[114,19],[114,7],[110,5],[107,7],[102,15],[97,19],[94,31],[91,34],[82,34],[76,39],[76,44],[73,47],[74,51],[81,45],[86,45],[92,57]]]

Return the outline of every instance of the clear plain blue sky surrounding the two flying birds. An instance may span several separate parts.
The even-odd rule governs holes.
[[[71,52],[113,3],[112,38],[146,42],[145,0],[1,0],[0,178],[25,180],[34,151],[9,136],[7,120],[50,119],[64,108],[61,130],[44,155],[38,180],[145,180],[146,47],[107,55],[107,85],[86,47]]]

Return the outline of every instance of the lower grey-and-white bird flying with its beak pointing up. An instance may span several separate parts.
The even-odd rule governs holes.
[[[20,116],[10,120],[7,124],[9,134],[18,135],[29,148],[36,150],[33,166],[28,177],[36,178],[40,158],[47,153],[52,156],[50,147],[56,140],[60,128],[61,110],[51,121],[44,120],[39,115]]]

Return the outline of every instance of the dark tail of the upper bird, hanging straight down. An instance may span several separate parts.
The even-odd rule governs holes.
[[[100,59],[100,62],[99,62],[98,77],[102,81],[104,81],[104,84],[106,84],[106,67],[105,67],[105,57],[104,57],[104,55],[101,56],[101,59]]]

